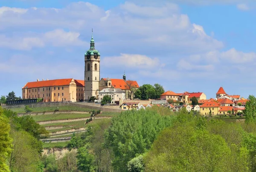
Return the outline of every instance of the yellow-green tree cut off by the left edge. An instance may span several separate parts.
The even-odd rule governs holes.
[[[10,171],[6,164],[6,160],[12,152],[12,138],[9,132],[9,119],[3,114],[3,109],[0,107],[0,172]]]

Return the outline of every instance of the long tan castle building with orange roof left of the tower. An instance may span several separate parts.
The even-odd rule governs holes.
[[[84,96],[84,80],[53,79],[27,82],[22,87],[23,99],[42,98],[43,102],[79,102]]]

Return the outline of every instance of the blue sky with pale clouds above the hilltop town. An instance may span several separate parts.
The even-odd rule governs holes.
[[[91,30],[100,78],[176,93],[256,95],[255,0],[0,0],[0,96],[84,78]]]

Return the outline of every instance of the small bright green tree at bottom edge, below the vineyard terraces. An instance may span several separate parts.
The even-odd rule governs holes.
[[[83,172],[92,172],[94,170],[94,156],[89,153],[85,146],[78,149],[76,158],[79,170]]]

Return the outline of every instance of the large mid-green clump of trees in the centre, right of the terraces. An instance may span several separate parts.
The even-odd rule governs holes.
[[[127,172],[128,161],[150,149],[158,133],[171,126],[174,119],[152,109],[125,111],[112,118],[105,132],[105,146],[113,152],[114,171]]]

